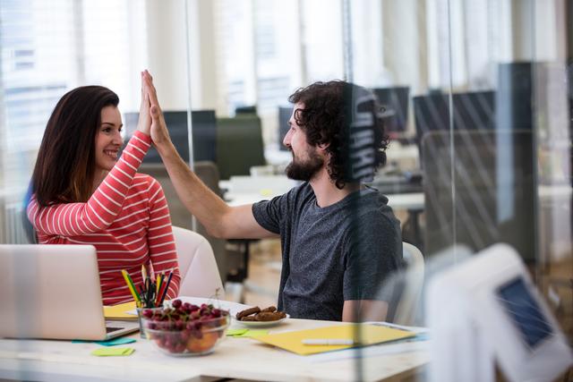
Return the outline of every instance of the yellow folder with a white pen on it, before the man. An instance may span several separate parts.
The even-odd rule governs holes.
[[[360,326],[360,336],[355,336],[355,327]],[[389,341],[396,341],[403,338],[414,337],[415,333],[406,330],[394,329],[392,327],[379,327],[374,325],[349,324],[336,327],[321,327],[318,329],[298,330],[295,332],[280,333],[278,335],[261,335],[252,337],[265,344],[272,344],[295,352],[300,355],[316,354],[319,352],[331,352],[333,350],[347,349],[350,347],[363,346],[369,344],[381,344]],[[306,345],[304,339],[348,339],[354,340],[352,345]]]

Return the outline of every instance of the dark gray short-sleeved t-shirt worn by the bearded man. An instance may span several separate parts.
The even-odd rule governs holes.
[[[381,285],[402,267],[398,219],[373,189],[320,208],[309,183],[252,205],[279,233],[283,267],[278,309],[293,318],[341,320],[346,300],[383,300]]]

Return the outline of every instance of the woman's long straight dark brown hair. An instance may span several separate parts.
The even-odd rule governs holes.
[[[73,89],[58,101],[32,174],[32,192],[40,206],[90,199],[101,109],[118,103],[117,95],[102,86]]]

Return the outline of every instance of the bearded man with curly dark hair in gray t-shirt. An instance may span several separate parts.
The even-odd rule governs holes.
[[[386,318],[381,282],[401,266],[399,222],[378,191],[364,187],[386,160],[380,106],[344,81],[298,89],[284,144],[286,174],[304,183],[253,205],[229,207],[177,154],[151,94],[151,138],[184,206],[213,236],[280,236],[278,309],[294,318]]]

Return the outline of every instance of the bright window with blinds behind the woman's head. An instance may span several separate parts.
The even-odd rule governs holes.
[[[139,1],[0,0],[3,115],[0,221],[21,208],[47,119],[80,85],[113,89],[123,111],[139,105],[138,54],[145,46]],[[136,26],[139,33],[133,33]],[[6,212],[7,213],[7,212]],[[14,242],[14,239],[0,239]]]

